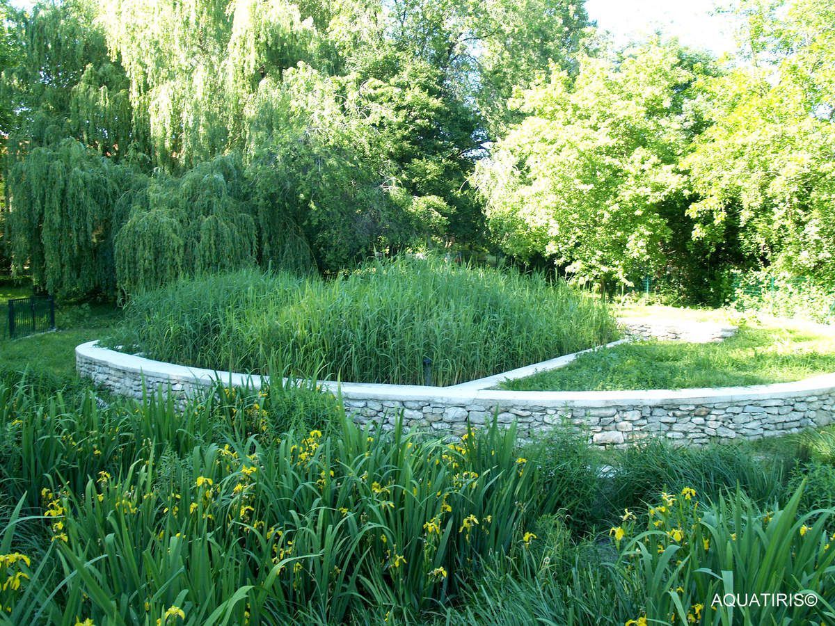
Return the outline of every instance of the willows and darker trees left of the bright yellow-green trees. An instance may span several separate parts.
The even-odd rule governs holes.
[[[12,22],[14,267],[62,295],[483,247],[474,162],[586,26],[564,0],[65,0]]]

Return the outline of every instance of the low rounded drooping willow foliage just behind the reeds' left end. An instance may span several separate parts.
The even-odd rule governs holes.
[[[181,275],[253,265],[256,225],[235,156],[174,178],[160,174],[134,194],[115,239],[116,278],[132,293]]]

